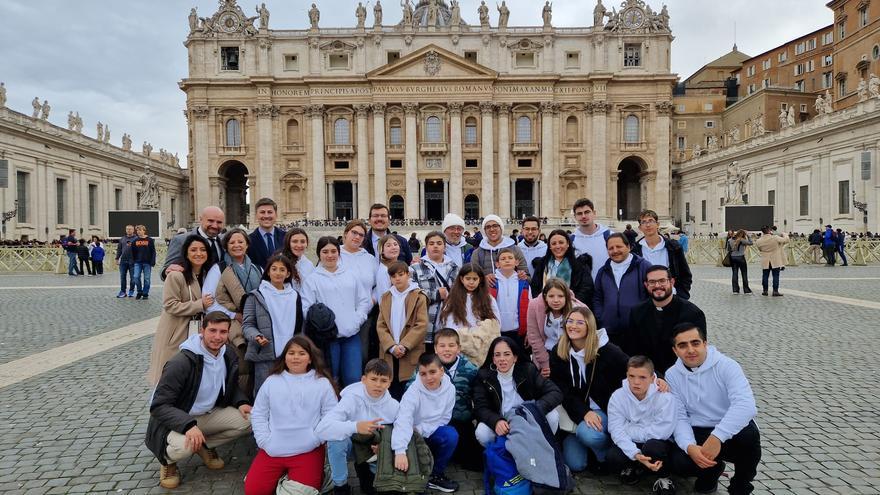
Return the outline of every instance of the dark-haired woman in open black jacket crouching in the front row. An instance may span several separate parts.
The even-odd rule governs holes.
[[[535,365],[519,359],[522,350],[512,338],[501,336],[489,344],[486,360],[473,383],[476,437],[484,447],[497,435],[507,435],[510,425],[504,419],[514,407],[533,400],[547,416],[556,432],[559,414],[554,411],[562,402],[562,392],[552,381],[541,376]]]

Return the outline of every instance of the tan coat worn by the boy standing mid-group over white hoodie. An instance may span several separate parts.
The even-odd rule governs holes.
[[[425,352],[425,333],[428,331],[428,298],[421,290],[406,295],[406,324],[400,332],[400,343],[409,349],[400,360],[399,381],[405,382],[415,372],[419,357]],[[393,356],[388,349],[395,345],[391,336],[391,292],[382,295],[379,301],[379,319],[376,320],[376,333],[379,335],[379,350],[389,366],[394,366]],[[393,368],[392,368],[393,369]]]

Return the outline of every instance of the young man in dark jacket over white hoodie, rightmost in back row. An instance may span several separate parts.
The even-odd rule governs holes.
[[[694,278],[681,244],[675,239],[660,235],[660,223],[654,210],[644,210],[639,214],[639,229],[645,235],[632,244],[633,254],[645,258],[652,265],[669,267],[669,272],[675,279],[675,293],[684,299],[690,299]]]

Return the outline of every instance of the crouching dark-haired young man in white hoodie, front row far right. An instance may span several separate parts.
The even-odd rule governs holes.
[[[736,465],[728,492],[748,494],[761,461],[761,435],[752,387],[739,363],[706,342],[705,330],[681,323],[672,330],[678,361],[666,371],[670,390],[681,401],[675,426],[672,467],[696,476],[694,491],[713,493],[724,461]],[[685,453],[686,452],[686,453]]]

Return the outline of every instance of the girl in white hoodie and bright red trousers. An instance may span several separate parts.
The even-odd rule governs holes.
[[[321,354],[308,337],[295,336],[257,394],[251,425],[259,450],[245,478],[245,495],[274,494],[285,474],[320,490],[324,445],[315,427],[337,403]]]

